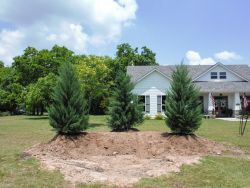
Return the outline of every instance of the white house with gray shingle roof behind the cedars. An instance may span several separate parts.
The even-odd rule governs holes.
[[[166,92],[170,88],[174,69],[174,65],[127,67],[127,73],[135,84],[133,92],[151,117],[164,113]],[[200,89],[205,114],[235,117],[241,110],[242,96],[245,94],[250,99],[248,65],[188,65],[188,70],[193,83]]]

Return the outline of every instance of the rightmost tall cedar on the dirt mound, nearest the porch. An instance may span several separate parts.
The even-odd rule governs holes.
[[[187,66],[181,64],[172,74],[166,96],[166,124],[173,133],[192,134],[201,125],[199,89],[192,83]]]

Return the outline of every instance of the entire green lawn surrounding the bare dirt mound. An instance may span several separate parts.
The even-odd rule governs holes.
[[[90,124],[89,132],[109,130],[105,116],[91,116]],[[138,129],[168,131],[162,120],[147,120]],[[54,134],[46,116],[0,117],[0,187],[68,187],[69,183],[59,172],[43,170],[37,160],[22,156],[23,150],[49,141]],[[239,146],[250,153],[250,124],[245,135],[239,136],[238,122],[203,120],[197,134]],[[250,187],[250,161],[223,156],[204,157],[198,165],[183,166],[180,173],[143,179],[135,187]]]

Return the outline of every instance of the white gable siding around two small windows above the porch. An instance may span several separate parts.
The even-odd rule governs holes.
[[[211,79],[211,72],[218,72],[218,79]],[[226,72],[227,74],[227,79],[219,79],[220,77],[220,72]],[[238,77],[237,75],[233,74],[232,72],[224,69],[220,65],[216,66],[214,69],[210,70],[207,72],[205,75],[201,76],[199,79],[196,81],[243,81],[242,78]]]

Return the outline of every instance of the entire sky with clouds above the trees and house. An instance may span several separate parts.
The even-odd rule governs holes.
[[[0,60],[27,46],[114,56],[127,42],[161,65],[250,64],[248,0],[1,0]]]

